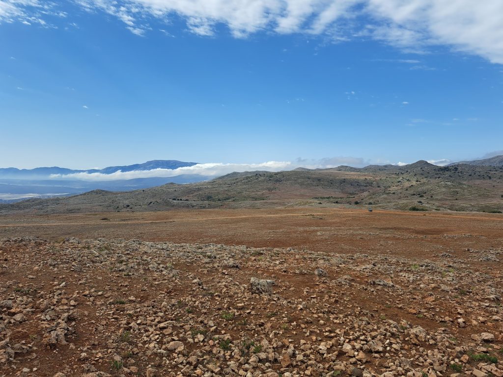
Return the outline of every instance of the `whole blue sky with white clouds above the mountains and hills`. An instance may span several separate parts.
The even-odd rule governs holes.
[[[503,2],[478,3],[0,0],[0,167],[501,151]]]

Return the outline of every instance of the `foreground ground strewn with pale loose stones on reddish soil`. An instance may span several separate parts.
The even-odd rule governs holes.
[[[0,375],[503,376],[501,248],[0,241]]]

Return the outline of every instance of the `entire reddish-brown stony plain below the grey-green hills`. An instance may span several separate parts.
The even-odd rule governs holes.
[[[503,375],[500,214],[10,214],[0,238],[0,375]]]

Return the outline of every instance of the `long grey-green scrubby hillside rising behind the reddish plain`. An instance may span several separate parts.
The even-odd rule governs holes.
[[[157,211],[170,208],[285,206],[457,211],[503,210],[503,167],[405,166],[231,173],[194,184],[166,184],[128,192],[91,191],[71,197],[0,204],[0,213]]]

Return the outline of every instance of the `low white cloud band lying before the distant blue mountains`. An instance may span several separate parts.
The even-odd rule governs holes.
[[[431,161],[435,162],[435,160]],[[438,161],[443,163],[448,160],[438,160]],[[256,171],[256,170],[278,172],[282,170],[293,170],[299,167],[308,169],[326,169],[326,168],[335,168],[341,165],[364,167],[370,165],[370,162],[358,157],[332,157],[320,160],[308,160],[299,158],[294,162],[268,161],[259,164],[207,163],[207,164],[196,164],[193,166],[187,166],[178,169],[135,170],[130,172],[122,172],[119,170],[111,174],[104,174],[104,173],[73,173],[66,175],[52,174],[50,178],[55,180],[82,180],[82,181],[97,182],[97,181],[126,180],[135,178],[175,177],[179,175],[220,177],[222,175],[233,172],[245,172],[245,171]],[[396,165],[405,165],[405,163],[397,163]]]

